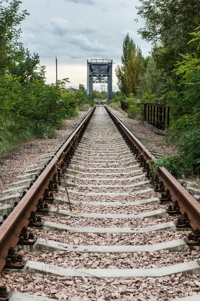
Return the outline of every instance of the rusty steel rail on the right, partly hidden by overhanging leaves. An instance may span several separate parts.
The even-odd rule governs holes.
[[[112,119],[126,133],[128,138],[138,148],[146,161],[150,161],[152,166],[156,158],[150,154],[148,149],[133,135],[133,133],[114,115],[114,113],[105,105],[105,108]],[[180,183],[164,168],[159,167],[156,172],[160,181],[163,181],[164,188],[169,189],[171,200],[177,200],[180,206],[180,212],[187,213],[189,224],[192,229],[200,228],[200,204],[180,185]]]

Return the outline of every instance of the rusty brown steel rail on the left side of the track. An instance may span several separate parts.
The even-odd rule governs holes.
[[[58,150],[57,154],[53,157],[38,179],[33,183],[25,196],[20,200],[14,210],[0,226],[0,271],[5,264],[9,247],[15,247],[19,240],[17,235],[20,234],[22,227],[27,226],[29,223],[30,212],[32,210],[36,210],[38,199],[43,198],[44,189],[48,187],[49,181],[56,172],[56,164],[63,159],[71,147],[71,142],[77,137],[88,122],[94,109],[95,106],[91,108],[85,118]]]

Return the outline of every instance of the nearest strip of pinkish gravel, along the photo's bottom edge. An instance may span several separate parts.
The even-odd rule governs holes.
[[[2,272],[0,284],[8,289],[55,300],[166,301],[200,294],[200,274],[142,278],[57,277],[35,273]]]

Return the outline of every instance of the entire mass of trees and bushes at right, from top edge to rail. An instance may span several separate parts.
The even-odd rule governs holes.
[[[137,96],[142,101],[160,99],[170,105],[166,139],[179,155],[158,159],[174,176],[200,172],[200,20],[198,0],[139,0],[138,16],[145,26],[138,31],[152,43],[152,74],[140,76]],[[195,30],[193,30],[195,28]],[[189,35],[193,38],[189,41]],[[154,81],[154,83],[153,83]],[[163,89],[162,89],[163,87]]]

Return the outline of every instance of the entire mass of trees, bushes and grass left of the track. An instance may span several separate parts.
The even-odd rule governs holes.
[[[78,107],[92,104],[83,85],[64,89],[68,78],[45,84],[38,54],[18,42],[19,25],[28,15],[19,13],[20,4],[0,0],[0,156],[22,141],[52,136],[65,118],[78,116]]]

